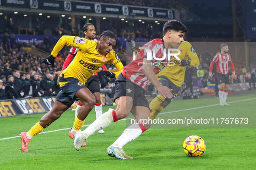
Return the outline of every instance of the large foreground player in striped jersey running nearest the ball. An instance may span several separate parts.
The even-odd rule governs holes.
[[[162,39],[154,39],[143,45],[143,47],[147,47],[150,50],[153,48],[157,49],[155,51],[156,56],[163,58],[166,52],[164,48],[178,48],[181,42],[184,41],[183,36],[186,32],[187,28],[181,22],[169,20],[163,27],[164,37]],[[159,46],[163,48],[157,48]],[[99,129],[104,129],[117,120],[125,118],[131,112],[138,122],[127,127],[122,135],[107,148],[107,153],[109,156],[116,157],[117,159],[133,159],[125,154],[123,146],[138,138],[151,126],[150,122],[145,124],[139,122],[139,120],[150,119],[149,103],[145,96],[148,82],[152,82],[164,98],[171,99],[173,97],[172,90],[162,85],[155,76],[155,74],[159,73],[166,65],[162,65],[161,67],[152,66],[152,63],[155,63],[157,60],[155,58],[153,60],[147,60],[147,57],[145,57],[146,51],[144,49],[140,51],[142,55],[137,54],[136,59],[123,68],[122,74],[120,74],[115,81],[115,103],[117,104],[117,109],[110,109],[103,113],[84,131],[75,135],[74,145],[77,150],[81,149],[83,142],[94,134],[94,132],[97,132]],[[161,61],[161,63],[167,62],[167,57]],[[139,63],[143,64],[139,65]],[[182,64],[184,64],[184,62],[182,62]]]

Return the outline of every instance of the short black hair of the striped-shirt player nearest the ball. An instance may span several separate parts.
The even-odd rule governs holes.
[[[188,29],[186,28],[186,26],[175,19],[165,22],[165,25],[163,28],[163,35],[165,35],[170,30],[174,30],[177,32],[182,31],[185,34],[188,32]]]

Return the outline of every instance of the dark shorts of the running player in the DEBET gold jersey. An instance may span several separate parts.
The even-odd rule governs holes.
[[[78,79],[75,79],[73,77],[68,78],[59,78],[59,82],[68,82],[65,85],[61,87],[61,91],[58,93],[56,97],[56,101],[60,101],[63,104],[67,105],[68,107],[71,107],[71,105],[78,101],[79,98],[75,97],[75,94],[80,90],[81,88],[86,88],[81,82],[78,81]]]

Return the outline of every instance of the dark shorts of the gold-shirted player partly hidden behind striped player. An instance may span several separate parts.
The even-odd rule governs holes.
[[[173,84],[173,82],[171,80],[169,80],[168,77],[166,77],[166,76],[159,76],[157,79],[163,86],[166,86],[166,87],[172,89],[173,97],[165,99],[168,103],[171,103],[171,101],[177,96],[178,91],[180,90],[181,87],[178,87],[177,85]]]

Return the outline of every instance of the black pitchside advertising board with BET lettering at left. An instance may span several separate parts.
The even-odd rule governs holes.
[[[0,116],[45,113],[52,110],[55,97],[22,98],[0,101]]]

